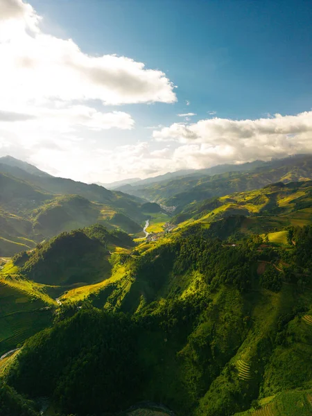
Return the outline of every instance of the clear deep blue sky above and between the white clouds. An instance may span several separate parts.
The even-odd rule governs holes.
[[[125,55],[177,85],[174,108],[137,112],[150,121],[177,112],[256,118],[311,107],[309,1],[35,0],[51,32],[92,54]],[[59,27],[55,27],[55,24]],[[185,105],[191,102],[191,107]],[[142,120],[144,123],[144,119]],[[153,122],[153,121],[152,121]]]

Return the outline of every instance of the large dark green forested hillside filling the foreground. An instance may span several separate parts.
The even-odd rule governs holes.
[[[65,414],[155,402],[181,416],[229,416],[266,411],[271,400],[281,416],[275,407],[291,409],[296,397],[309,414],[311,227],[290,229],[284,248],[263,248],[259,236],[233,247],[208,231],[122,257],[129,272],[80,301],[79,312],[62,306],[59,322],[7,367],[8,385],[51,397]]]

